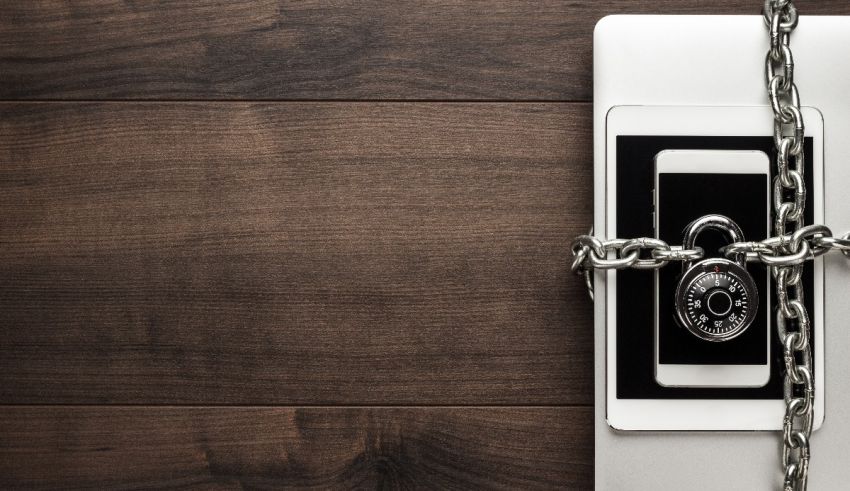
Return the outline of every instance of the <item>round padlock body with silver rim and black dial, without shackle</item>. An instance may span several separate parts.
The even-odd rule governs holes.
[[[679,283],[679,324],[706,341],[728,341],[755,319],[758,290],[747,270],[726,259],[708,259]]]

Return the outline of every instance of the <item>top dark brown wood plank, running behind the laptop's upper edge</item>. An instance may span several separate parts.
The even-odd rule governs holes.
[[[0,2],[2,99],[587,101],[608,14],[760,1]],[[798,0],[805,15],[846,0]]]

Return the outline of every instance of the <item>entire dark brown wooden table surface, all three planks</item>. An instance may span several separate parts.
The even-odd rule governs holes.
[[[593,26],[759,3],[2,2],[0,487],[590,488]]]

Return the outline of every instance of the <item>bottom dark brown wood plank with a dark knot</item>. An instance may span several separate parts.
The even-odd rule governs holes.
[[[4,489],[590,489],[590,408],[0,408]]]

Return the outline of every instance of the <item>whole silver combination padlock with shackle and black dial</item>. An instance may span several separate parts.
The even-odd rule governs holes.
[[[706,215],[685,228],[683,247],[693,249],[697,236],[706,229],[725,233],[730,242],[743,242],[741,227],[723,215]],[[722,257],[682,263],[682,278],[676,287],[676,318],[691,334],[706,341],[729,341],[753,323],[759,295],[746,256],[735,261]]]

